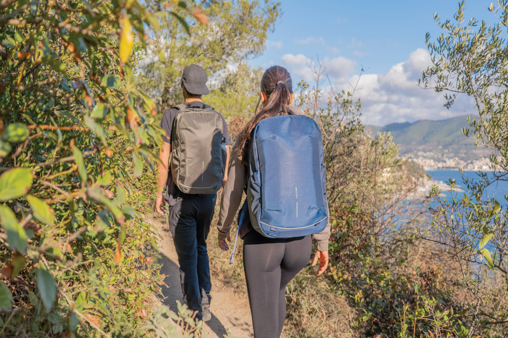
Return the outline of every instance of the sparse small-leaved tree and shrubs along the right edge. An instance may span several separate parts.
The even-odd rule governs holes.
[[[463,177],[467,192],[453,193],[451,198],[443,198],[433,187],[429,198],[437,203],[431,209],[432,220],[416,230],[422,238],[438,243],[442,255],[460,267],[450,278],[464,293],[467,337],[504,337],[508,330],[508,212],[505,205],[486,196],[486,189],[508,180],[508,45],[504,35],[508,2],[490,6],[494,24],[475,18],[465,21],[464,8],[461,2],[454,20],[441,21],[435,15],[443,32],[435,42],[427,34],[432,65],[423,72],[420,84],[443,92],[447,108],[459,95],[473,99],[478,115],[467,118],[469,127],[462,132],[490,150],[493,171],[490,175],[480,171],[474,180]],[[456,182],[448,184],[452,188]]]

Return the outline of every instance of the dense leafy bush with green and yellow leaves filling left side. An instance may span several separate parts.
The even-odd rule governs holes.
[[[150,302],[164,276],[132,186],[161,142],[131,66],[156,20],[117,0],[4,1],[0,13],[0,335],[169,328]]]

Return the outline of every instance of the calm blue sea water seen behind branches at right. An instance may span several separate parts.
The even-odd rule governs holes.
[[[444,183],[448,182],[448,178],[455,178],[455,183],[460,185],[462,190],[467,190],[466,184],[464,184],[463,176],[467,176],[469,181],[478,180],[478,172],[477,171],[464,171],[461,174],[458,170],[432,170],[427,171],[430,176],[436,181],[443,181]],[[489,178],[493,178],[491,172],[487,172]],[[450,192],[444,192],[447,197],[451,197]],[[459,193],[458,198],[460,198],[464,193]],[[487,187],[485,190],[482,199],[490,199],[495,198],[501,205],[508,206],[508,201],[504,198],[504,195],[508,194],[508,181],[498,181]],[[455,195],[455,193],[454,193]]]

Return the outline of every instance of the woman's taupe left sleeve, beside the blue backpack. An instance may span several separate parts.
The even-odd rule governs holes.
[[[235,220],[236,213],[242,201],[243,189],[245,188],[245,165],[238,159],[238,144],[240,134],[236,137],[229,160],[228,180],[220,198],[220,213],[217,223],[218,239],[223,241],[230,234],[230,229]]]

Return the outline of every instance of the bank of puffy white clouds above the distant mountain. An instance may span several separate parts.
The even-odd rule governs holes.
[[[286,54],[281,61],[295,80],[299,78],[309,83],[314,81],[315,74],[309,65],[315,66],[315,61],[303,54]],[[357,71],[355,61],[338,57],[324,58],[322,62],[335,92],[341,89],[351,90],[351,86],[357,83],[358,74],[354,74]],[[443,93],[418,86],[422,71],[429,65],[431,60],[428,51],[419,48],[410,53],[407,60],[393,65],[383,74],[362,74],[355,97],[362,101],[363,121],[382,126],[393,122],[441,120],[473,114],[471,98],[459,96],[448,110],[443,107]],[[326,78],[325,83],[327,84]],[[331,91],[330,88],[324,89]]]

